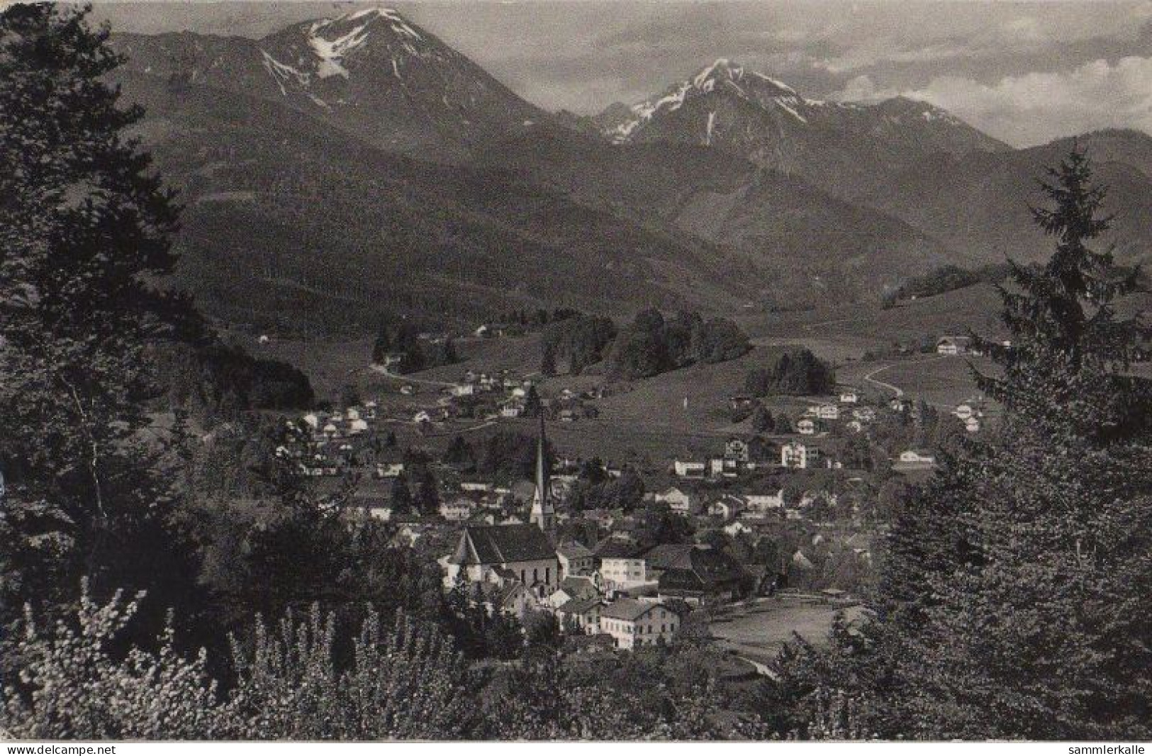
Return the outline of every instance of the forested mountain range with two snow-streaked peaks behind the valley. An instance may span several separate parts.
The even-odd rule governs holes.
[[[551,114],[385,8],[113,44],[187,206],[177,282],[281,331],[878,298],[946,263],[1045,256],[1028,202],[1069,146],[1013,150],[903,98],[808,99],[722,59],[632,106]],[[1085,139],[1119,254],[1143,260],[1152,138]]]

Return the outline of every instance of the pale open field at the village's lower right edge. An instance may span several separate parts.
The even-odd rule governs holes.
[[[826,643],[832,618],[840,611],[854,620],[862,610],[859,605],[817,598],[763,598],[750,610],[734,610],[714,620],[710,629],[722,647],[753,662],[771,663],[780,648],[793,638],[793,633],[814,645]]]

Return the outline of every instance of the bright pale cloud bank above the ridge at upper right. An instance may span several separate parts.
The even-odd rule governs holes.
[[[1094,60],[1066,71],[1033,71],[982,83],[937,76],[926,86],[878,86],[867,75],[829,99],[874,101],[903,94],[925,100],[1009,144],[1041,144],[1104,128],[1152,134],[1152,58]]]

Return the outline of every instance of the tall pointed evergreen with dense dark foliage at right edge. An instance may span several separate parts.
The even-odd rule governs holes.
[[[1055,252],[1013,266],[1010,341],[982,340],[1000,428],[893,523],[872,657],[888,734],[1152,734],[1152,391],[1128,372],[1139,320],[1115,312],[1136,272],[1089,247],[1108,227],[1091,175],[1079,151],[1049,172],[1033,213]]]

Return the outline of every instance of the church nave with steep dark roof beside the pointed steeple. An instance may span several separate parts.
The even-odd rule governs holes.
[[[556,552],[535,524],[465,527],[448,559],[446,583],[493,582],[497,569],[509,570],[538,597],[560,584]]]

